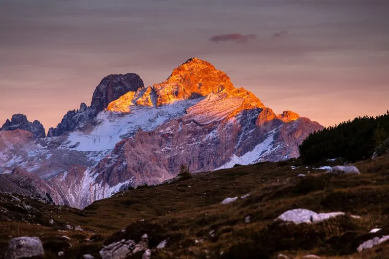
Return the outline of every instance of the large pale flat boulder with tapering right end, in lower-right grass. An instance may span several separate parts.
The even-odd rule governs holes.
[[[309,224],[322,222],[340,215],[344,215],[344,212],[316,213],[312,210],[298,208],[285,211],[277,219],[284,222],[292,222],[294,224]]]

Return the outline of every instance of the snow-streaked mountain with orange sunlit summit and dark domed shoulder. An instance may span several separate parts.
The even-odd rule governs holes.
[[[62,204],[85,207],[128,187],[162,183],[182,164],[200,172],[297,157],[298,145],[323,128],[291,111],[276,115],[198,58],[149,87],[126,75],[105,77],[91,106],[68,112],[48,138],[5,145],[13,151],[1,170],[34,172]]]

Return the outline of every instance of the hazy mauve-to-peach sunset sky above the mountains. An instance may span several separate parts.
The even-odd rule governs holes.
[[[46,130],[102,77],[165,80],[190,57],[276,113],[331,125],[389,109],[389,1],[0,0],[0,126]]]

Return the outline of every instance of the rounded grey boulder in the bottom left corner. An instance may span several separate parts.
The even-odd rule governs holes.
[[[10,240],[5,259],[42,257],[45,252],[38,237],[17,237]]]

